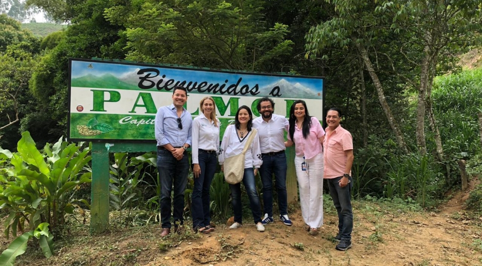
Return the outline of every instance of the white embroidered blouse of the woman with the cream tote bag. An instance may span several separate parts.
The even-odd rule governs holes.
[[[224,131],[223,141],[219,150],[219,164],[223,165],[226,158],[241,154],[252,130],[243,139],[239,139],[234,125],[229,125]],[[259,132],[258,132],[259,133]],[[229,143],[228,143],[229,138]],[[259,168],[263,164],[261,149],[259,148],[259,134],[254,136],[253,142],[245,153],[245,168]]]

